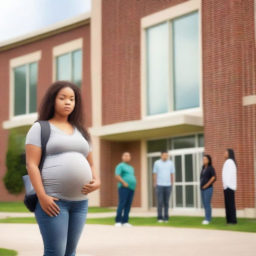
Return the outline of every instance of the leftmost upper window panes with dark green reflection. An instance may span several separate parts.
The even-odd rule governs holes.
[[[14,116],[36,112],[37,62],[16,67],[13,71]]]

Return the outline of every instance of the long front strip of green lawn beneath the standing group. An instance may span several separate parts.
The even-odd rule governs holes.
[[[219,229],[231,230],[242,232],[256,232],[256,220],[248,218],[238,218],[238,224],[225,225],[225,218],[213,218],[209,225],[202,225],[202,217],[188,217],[188,216],[171,216],[169,223],[158,223],[156,218],[142,218],[130,217],[129,222],[134,226],[165,226],[165,227],[179,227],[179,228],[206,228],[206,229]],[[0,220],[0,223],[36,223],[36,219],[32,218],[6,218]],[[86,220],[88,224],[103,224],[113,225],[114,218],[97,218]]]

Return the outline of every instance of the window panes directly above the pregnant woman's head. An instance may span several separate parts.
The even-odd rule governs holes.
[[[68,80],[81,88],[82,50],[75,50],[56,57],[57,80]]]

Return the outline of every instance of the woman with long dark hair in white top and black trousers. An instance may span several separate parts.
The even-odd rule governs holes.
[[[224,199],[227,224],[236,224],[236,160],[232,149],[227,149],[224,154],[225,162],[222,168],[222,183],[224,188]]]

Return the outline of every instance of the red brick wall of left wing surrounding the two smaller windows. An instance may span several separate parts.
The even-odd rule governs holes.
[[[42,58],[38,66],[38,107],[46,92],[52,84],[52,48],[58,44],[83,38],[83,74],[82,94],[87,115],[87,125],[92,126],[91,85],[90,85],[90,24],[62,32],[42,40],[22,45],[4,52],[0,52],[0,90],[2,92],[2,108],[0,108],[0,123],[9,119],[9,60],[30,52],[42,50]],[[9,194],[2,178],[6,173],[5,157],[8,142],[8,130],[0,126],[0,201],[22,200],[24,193],[16,197]]]

